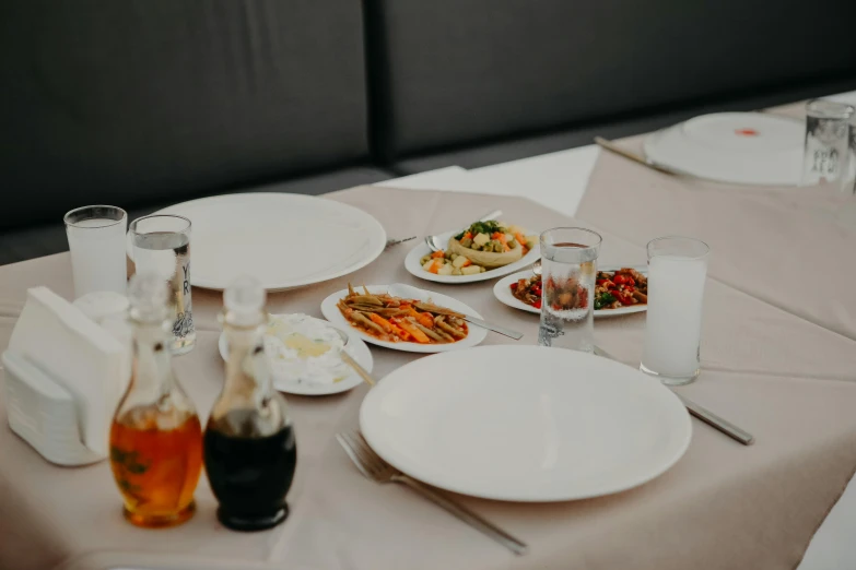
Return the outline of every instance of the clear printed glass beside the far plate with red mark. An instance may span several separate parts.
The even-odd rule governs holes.
[[[851,190],[854,165],[851,159],[852,120],[856,109],[845,103],[812,99],[806,104],[806,146],[802,186],[821,181]]]

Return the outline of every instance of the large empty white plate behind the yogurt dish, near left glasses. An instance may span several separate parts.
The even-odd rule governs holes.
[[[192,223],[190,282],[224,289],[253,275],[268,290],[340,277],[374,261],[383,226],[356,207],[302,194],[246,193],[164,209]]]

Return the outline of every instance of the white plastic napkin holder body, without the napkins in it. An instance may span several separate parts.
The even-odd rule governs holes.
[[[12,431],[57,465],[86,465],[105,459],[81,442],[71,392],[26,356],[7,351],[2,360]]]

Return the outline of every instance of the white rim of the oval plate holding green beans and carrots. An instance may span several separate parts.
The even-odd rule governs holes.
[[[388,285],[368,285],[368,292],[386,293],[388,287],[389,287]],[[464,314],[469,314],[470,317],[476,317],[477,319],[482,318],[481,314],[479,314],[478,312],[476,312],[474,309],[472,309],[472,307],[470,307],[469,305],[465,305],[457,299],[453,299],[452,297],[448,297],[446,295],[441,295],[439,293],[433,293],[424,289],[417,289],[415,287],[412,287],[412,289],[422,293],[421,300],[431,300],[438,307],[445,307],[446,309],[452,309],[454,311],[461,312]],[[362,290],[362,287],[359,287],[357,290]],[[419,343],[388,343],[386,341],[379,341],[374,336],[365,334],[364,332],[355,329],[354,326],[351,326],[351,323],[348,322],[348,319],[345,319],[344,316],[342,316],[342,312],[339,310],[339,307],[337,307],[336,304],[339,302],[339,299],[341,299],[345,295],[348,295],[348,289],[342,289],[333,293],[332,295],[324,299],[324,301],[321,302],[321,313],[324,314],[325,319],[327,319],[328,321],[330,321],[336,326],[342,330],[350,330],[349,332],[353,332],[363,341],[371,344],[375,344],[377,346],[383,346],[385,348],[392,348],[395,351],[404,351],[408,353],[446,353],[449,351],[470,348],[481,343],[484,340],[484,337],[488,336],[488,331],[485,329],[482,329],[481,326],[476,326],[474,324],[467,323],[467,328],[469,329],[469,334],[467,334],[466,339],[458,341],[457,343],[419,344]]]

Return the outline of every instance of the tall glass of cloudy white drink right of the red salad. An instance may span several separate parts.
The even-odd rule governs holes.
[[[711,248],[687,237],[648,241],[648,314],[640,369],[664,384],[699,377],[702,300]]]

